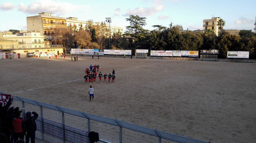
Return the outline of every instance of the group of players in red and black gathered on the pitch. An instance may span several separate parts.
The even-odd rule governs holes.
[[[112,77],[112,82],[115,82],[115,70],[113,69],[112,71],[112,75],[109,73],[108,75],[105,73],[105,75],[102,75],[101,72],[99,73],[99,75],[97,76],[97,72],[99,72],[99,68],[100,66],[97,64],[92,66],[92,64],[90,65],[90,68],[86,68],[85,69],[85,83],[88,84],[88,79],[89,79],[89,84],[91,82],[96,83],[96,78],[99,77],[100,79],[100,83],[101,83],[101,78],[104,77],[104,82],[107,82],[107,77],[108,77],[108,82],[110,81],[111,77]],[[96,72],[97,69],[97,72]]]

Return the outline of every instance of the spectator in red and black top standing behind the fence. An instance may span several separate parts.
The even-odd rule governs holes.
[[[24,135],[27,134],[26,126],[23,119],[20,117],[20,112],[15,112],[15,115],[16,116],[12,120],[14,142],[16,142],[18,139],[24,139]]]

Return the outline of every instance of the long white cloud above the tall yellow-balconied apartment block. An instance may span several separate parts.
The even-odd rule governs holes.
[[[60,3],[52,0],[37,0],[31,2],[29,5],[20,3],[18,10],[29,13],[37,14],[40,12],[50,12],[54,14],[65,14],[69,12],[86,12],[91,7],[89,5],[74,5],[70,3]]]

